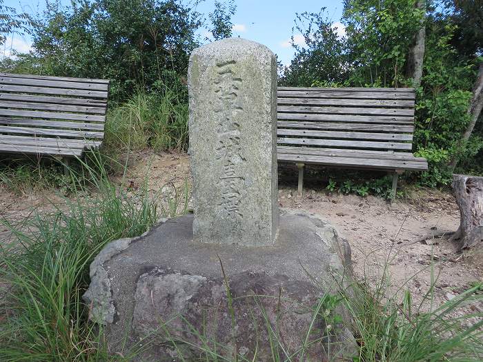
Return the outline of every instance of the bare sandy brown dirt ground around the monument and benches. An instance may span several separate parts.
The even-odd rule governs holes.
[[[153,194],[180,194],[186,182],[190,185],[189,161],[186,154],[150,152],[136,154],[128,160],[121,187],[137,188],[145,181]],[[146,177],[148,175],[148,177]],[[279,205],[319,214],[339,230],[351,244],[356,276],[366,277],[375,285],[384,271],[390,275],[391,292],[408,289],[415,303],[435,281],[434,305],[453,299],[476,281],[483,280],[482,254],[455,254],[446,237],[431,235],[452,232],[459,224],[459,211],[451,194],[418,192],[392,205],[377,197],[357,197],[328,193],[324,184],[308,188],[304,197],[296,196],[297,173],[284,172],[279,179]],[[59,200],[54,192],[41,194],[0,193],[0,217],[22,219],[33,207],[42,208],[48,200]],[[421,241],[428,237],[426,241]],[[0,226],[0,240],[8,232]],[[483,305],[474,308],[483,311]]]

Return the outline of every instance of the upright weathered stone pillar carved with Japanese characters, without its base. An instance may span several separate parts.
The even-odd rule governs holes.
[[[195,241],[272,245],[277,211],[277,62],[232,38],[193,51],[188,70]]]

